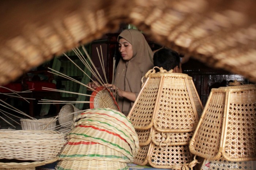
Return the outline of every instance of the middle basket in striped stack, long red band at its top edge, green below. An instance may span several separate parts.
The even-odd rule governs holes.
[[[129,144],[120,135],[113,132],[94,126],[79,125],[79,127],[74,128],[67,136],[69,139],[83,139],[103,144],[123,153],[133,161],[133,154]]]

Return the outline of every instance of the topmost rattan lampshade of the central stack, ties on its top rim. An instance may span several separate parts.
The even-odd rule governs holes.
[[[135,129],[154,126],[159,132],[192,132],[203,111],[202,103],[187,74],[154,68],[145,75],[142,87],[128,119]]]

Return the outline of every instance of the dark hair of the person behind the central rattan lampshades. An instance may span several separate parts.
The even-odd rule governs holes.
[[[156,51],[153,61],[154,66],[163,67],[167,71],[174,69],[176,66],[180,68],[180,56],[176,51],[171,49],[163,48]]]

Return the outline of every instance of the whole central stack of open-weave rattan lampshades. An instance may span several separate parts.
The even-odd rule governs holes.
[[[129,115],[141,149],[134,163],[181,169],[192,160],[188,144],[203,107],[187,74],[149,70]],[[168,156],[167,156],[168,155]]]

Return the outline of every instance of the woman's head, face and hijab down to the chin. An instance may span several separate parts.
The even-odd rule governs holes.
[[[137,54],[149,54],[152,50],[147,44],[144,35],[135,29],[126,29],[118,36],[119,52],[125,61],[136,57]]]

